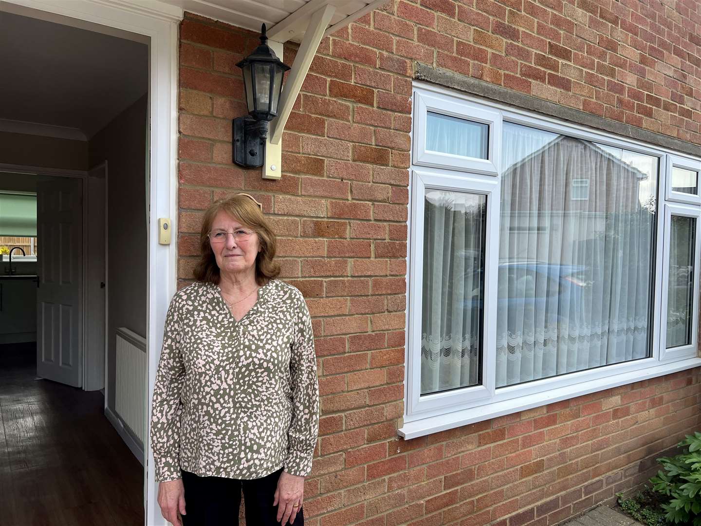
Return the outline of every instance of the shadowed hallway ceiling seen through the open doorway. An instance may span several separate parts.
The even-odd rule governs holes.
[[[148,46],[0,11],[0,72],[0,130],[86,140],[147,93]]]

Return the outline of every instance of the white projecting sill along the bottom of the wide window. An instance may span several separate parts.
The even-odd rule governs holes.
[[[543,393],[534,393],[517,399],[503,400],[479,407],[470,407],[470,409],[440,414],[433,417],[421,419],[417,417],[417,415],[414,415],[414,420],[411,422],[407,422],[411,417],[404,415],[404,425],[397,430],[397,434],[404,438],[404,440],[410,440],[411,438],[418,438],[420,436],[438,433],[439,431],[501,417],[504,414],[524,411],[533,407],[539,407],[540,405],[568,400],[569,398],[576,398],[577,396],[583,396],[596,391],[603,391],[604,389],[611,389],[625,384],[641,382],[642,380],[669,375],[673,372],[699,366],[701,366],[701,358],[687,358],[686,360],[648,367],[644,370],[635,370],[613,377],[604,377],[590,382],[563,386]]]

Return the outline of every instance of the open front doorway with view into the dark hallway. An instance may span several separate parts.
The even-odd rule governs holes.
[[[147,353],[149,45],[33,14],[0,11],[0,99],[13,102],[0,109],[0,196],[35,199],[34,253],[0,262],[11,290],[0,514],[10,525],[143,524],[147,440],[117,409],[116,332]],[[15,223],[0,208],[0,245],[27,234]],[[4,313],[22,318],[21,334]],[[132,375],[145,386],[140,363]]]

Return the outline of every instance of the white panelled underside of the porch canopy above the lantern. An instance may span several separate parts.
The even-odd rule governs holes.
[[[388,0],[163,0],[184,11],[214,18],[238,27],[259,32],[261,24],[268,29],[268,38],[278,42],[300,42],[309,18],[324,6],[336,11],[327,25],[328,36],[379,8]]]

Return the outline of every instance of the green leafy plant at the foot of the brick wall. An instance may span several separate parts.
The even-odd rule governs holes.
[[[658,459],[664,471],[650,482],[669,499],[661,504],[667,522],[701,526],[701,433],[687,435],[679,447],[684,448],[681,454]]]

